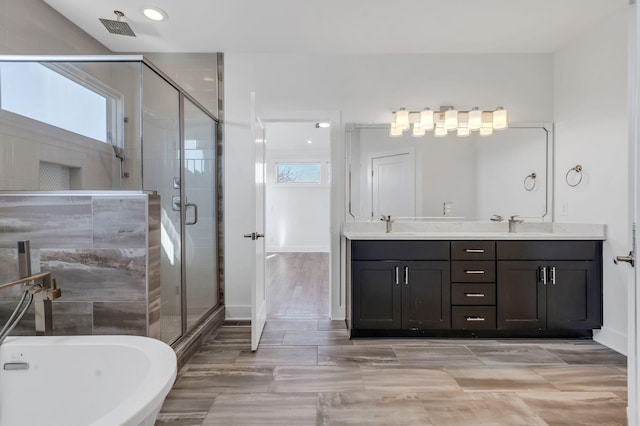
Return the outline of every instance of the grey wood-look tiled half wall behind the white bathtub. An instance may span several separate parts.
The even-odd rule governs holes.
[[[18,278],[17,241],[32,272],[52,272],[55,335],[160,337],[160,198],[140,192],[0,194],[0,283]],[[4,324],[21,294],[0,290]],[[35,334],[33,307],[12,334]]]

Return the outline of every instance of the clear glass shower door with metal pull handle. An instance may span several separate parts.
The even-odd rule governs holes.
[[[184,99],[184,264],[187,328],[218,303],[216,122]]]

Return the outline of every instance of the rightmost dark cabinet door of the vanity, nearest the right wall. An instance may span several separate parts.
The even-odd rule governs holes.
[[[599,265],[590,261],[550,262],[547,327],[593,329],[601,326]]]

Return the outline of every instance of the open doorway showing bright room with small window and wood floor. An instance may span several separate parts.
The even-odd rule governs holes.
[[[330,129],[266,123],[267,320],[330,316]]]

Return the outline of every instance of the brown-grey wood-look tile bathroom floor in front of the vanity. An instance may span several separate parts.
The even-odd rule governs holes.
[[[626,424],[626,357],[591,340],[349,340],[310,312],[268,319],[256,352],[221,327],[156,425]]]

